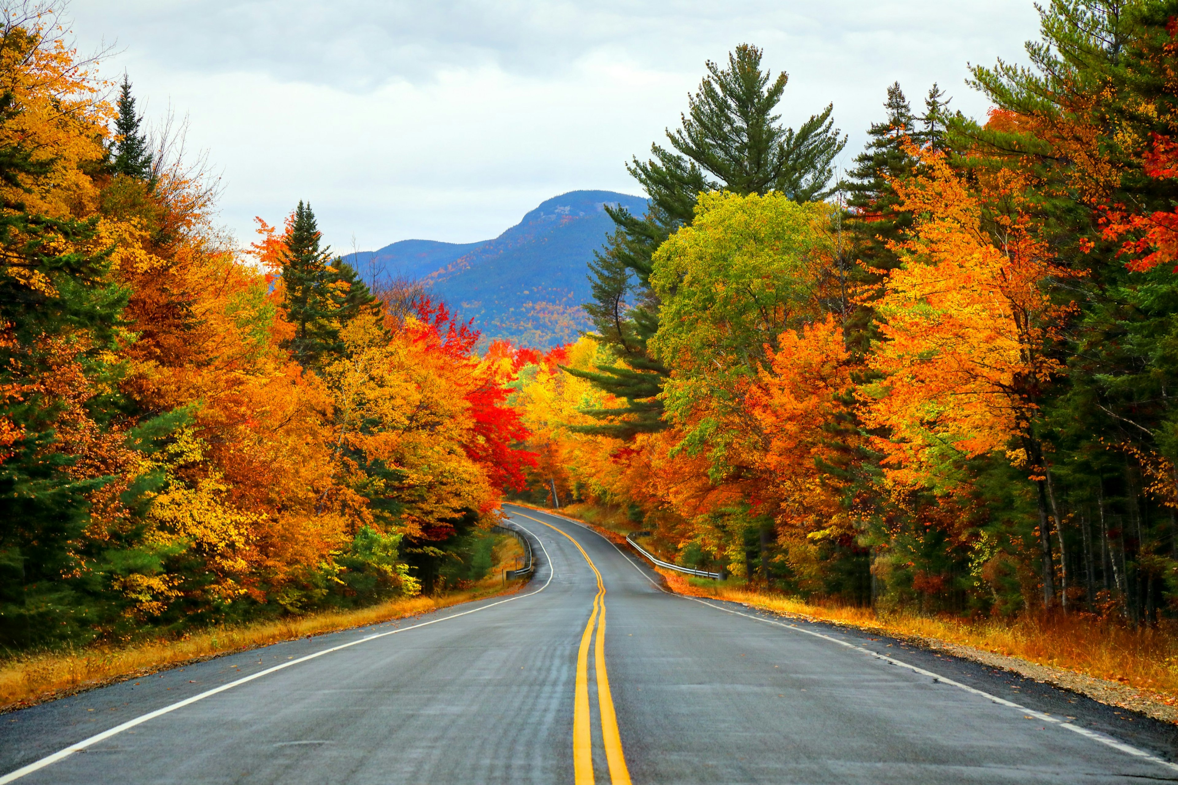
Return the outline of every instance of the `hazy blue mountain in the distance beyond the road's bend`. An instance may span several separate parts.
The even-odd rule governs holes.
[[[485,338],[547,348],[575,340],[589,326],[581,310],[591,295],[589,262],[614,231],[604,205],[647,209],[641,197],[571,191],[541,202],[494,240],[402,240],[357,254],[356,264],[362,273],[373,265],[385,280],[422,279],[434,298],[472,318]]]

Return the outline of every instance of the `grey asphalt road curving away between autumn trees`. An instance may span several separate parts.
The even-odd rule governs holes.
[[[507,511],[541,546],[522,592],[6,714],[0,785],[1178,781],[1171,726],[667,594],[596,533]]]

